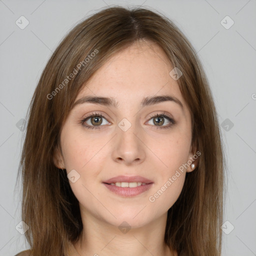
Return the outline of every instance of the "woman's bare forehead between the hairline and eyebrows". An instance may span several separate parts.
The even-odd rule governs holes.
[[[118,102],[140,101],[157,94],[169,94],[185,102],[177,82],[169,75],[172,66],[156,44],[137,41],[110,57],[84,83],[76,100],[86,95],[114,97]]]

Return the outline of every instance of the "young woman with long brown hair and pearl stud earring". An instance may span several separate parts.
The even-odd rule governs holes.
[[[207,79],[149,9],[108,7],[46,64],[20,161],[18,255],[220,255],[224,159]]]

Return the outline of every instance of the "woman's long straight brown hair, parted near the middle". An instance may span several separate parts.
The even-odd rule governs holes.
[[[172,67],[182,71],[177,83],[191,113],[192,145],[201,152],[167,212],[165,243],[179,256],[220,255],[224,156],[200,61],[167,17],[148,8],[120,6],[104,8],[69,31],[47,62],[29,104],[18,175],[23,186],[22,220],[29,226],[25,237],[33,255],[64,256],[68,241],[77,241],[81,234],[78,201],[66,171],[53,163],[56,150],[61,150],[61,127],[84,82],[110,56],[139,39],[157,43]]]

